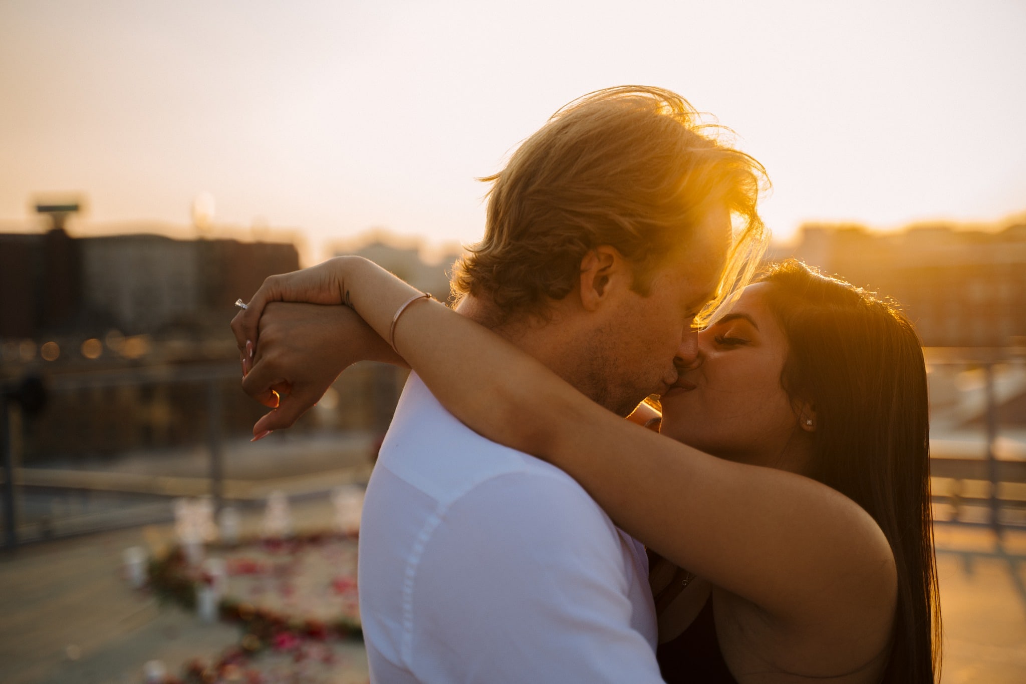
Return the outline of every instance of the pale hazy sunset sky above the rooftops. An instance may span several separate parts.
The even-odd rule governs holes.
[[[190,223],[481,235],[485,187],[566,102],[660,85],[768,169],[767,224],[1026,210],[1026,3],[0,0],[0,230]]]

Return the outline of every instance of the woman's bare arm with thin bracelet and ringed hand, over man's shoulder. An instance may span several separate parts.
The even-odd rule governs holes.
[[[233,328],[241,344],[255,336],[267,301],[313,298],[348,304],[387,338],[397,309],[418,293],[366,259],[339,257],[268,279]],[[394,332],[396,349],[453,415],[566,471],[618,525],[665,558],[783,625],[803,629],[834,614],[886,633],[893,556],[875,522],[840,493],[623,420],[441,304],[415,301]]]

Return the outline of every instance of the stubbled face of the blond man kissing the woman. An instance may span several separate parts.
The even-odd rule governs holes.
[[[647,295],[626,292],[596,319],[582,346],[586,394],[627,415],[677,380],[674,359],[683,365],[695,359],[692,324],[719,284],[729,244],[729,212],[710,211],[687,244],[652,273]]]

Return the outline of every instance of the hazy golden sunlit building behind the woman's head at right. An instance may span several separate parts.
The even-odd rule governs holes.
[[[994,231],[921,226],[876,234],[807,225],[795,256],[897,299],[926,347],[1026,346],[1026,225]]]

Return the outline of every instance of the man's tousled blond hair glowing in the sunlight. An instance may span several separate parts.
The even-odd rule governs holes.
[[[457,299],[490,300],[503,320],[544,315],[600,245],[634,265],[634,288],[647,294],[653,268],[725,204],[736,236],[712,311],[749,280],[766,240],[755,206],[765,171],[720,142],[724,131],[662,88],[606,88],[566,105],[481,178],[492,184],[484,239],[453,268]]]

